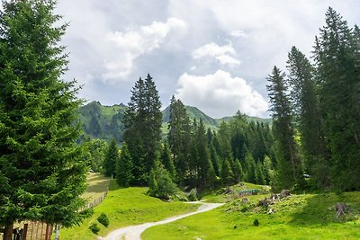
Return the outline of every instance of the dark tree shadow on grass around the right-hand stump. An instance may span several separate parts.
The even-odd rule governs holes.
[[[349,206],[346,216],[336,217],[334,207],[338,202],[345,202]],[[290,225],[299,227],[344,223],[358,218],[360,192],[346,192],[342,195],[335,193],[317,194],[307,198],[302,204],[302,208],[293,212]]]

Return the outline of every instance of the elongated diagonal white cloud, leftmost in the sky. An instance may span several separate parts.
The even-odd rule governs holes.
[[[169,18],[166,22],[152,22],[141,26],[137,31],[113,31],[106,34],[106,40],[113,44],[116,58],[106,60],[104,79],[124,78],[129,76],[134,60],[139,56],[160,48],[170,31],[182,29],[185,22]]]

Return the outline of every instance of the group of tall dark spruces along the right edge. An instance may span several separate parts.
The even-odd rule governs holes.
[[[293,47],[287,76],[278,67],[268,76],[275,188],[360,190],[359,33],[329,7],[313,61]]]

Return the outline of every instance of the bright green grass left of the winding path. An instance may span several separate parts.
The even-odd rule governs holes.
[[[97,223],[101,228],[99,235],[106,236],[112,230],[145,222],[158,221],[171,216],[180,215],[197,209],[197,205],[183,202],[164,202],[146,195],[148,188],[119,188],[112,181],[107,198],[94,208],[94,215],[87,218],[79,227],[64,228],[60,231],[61,239],[94,240],[94,235],[88,228]],[[105,228],[96,220],[101,213],[110,219],[109,227]]]

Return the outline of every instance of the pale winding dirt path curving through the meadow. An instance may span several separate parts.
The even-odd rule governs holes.
[[[190,203],[190,202],[189,202]],[[144,223],[140,225],[130,226],[130,227],[122,227],[115,231],[112,231],[106,237],[98,237],[98,240],[140,240],[142,232],[145,231],[148,227],[154,227],[157,225],[162,225],[170,222],[174,222],[175,220],[186,218],[192,216],[194,214],[198,214],[205,211],[210,211],[211,209],[216,209],[223,205],[223,203],[203,203],[200,201],[193,201],[191,203],[201,203],[202,205],[194,212],[179,215],[176,217],[166,218],[165,220],[151,223]]]

